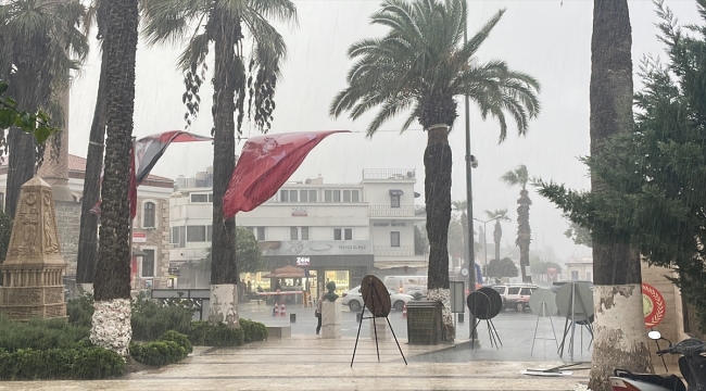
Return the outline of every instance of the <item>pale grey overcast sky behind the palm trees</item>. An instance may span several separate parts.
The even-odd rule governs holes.
[[[326,182],[358,182],[363,168],[416,168],[416,191],[424,195],[426,134],[418,123],[400,135],[402,121],[390,122],[371,139],[365,129],[373,113],[356,122],[328,115],[332,97],[345,87],[351,63],[348,47],[367,37],[381,36],[384,30],[369,25],[369,16],[379,8],[378,0],[293,0],[299,12],[299,26],[279,26],[289,56],[283,78],[277,86],[277,110],[273,133],[349,129],[353,134],[333,135],[314,150],[292,180],[314,178],[322,174]],[[504,225],[503,244],[514,242],[519,189],[508,189],[500,176],[526,164],[530,176],[554,179],[573,188],[588,189],[590,180],[577,157],[589,153],[589,81],[591,76],[591,0],[469,0],[469,35],[478,30],[499,9],[507,12],[478,52],[480,61],[505,60],[510,67],[533,75],[542,84],[542,112],[530,124],[526,137],[517,137],[514,124],[505,142],[497,144],[499,125],[482,122],[471,105],[471,153],[479,160],[474,169],[475,216],[486,218],[484,210],[509,209],[513,223]],[[667,0],[682,23],[697,23],[694,0]],[[657,21],[652,1],[631,0],[633,65],[646,53],[664,58],[657,41]],[[94,34],[93,34],[94,36]],[[72,89],[70,118],[70,152],[86,156],[92,119],[100,54],[93,51]],[[140,42],[137,52],[135,135],[184,128],[185,106],[182,76],[175,64],[181,47],[148,47]],[[211,67],[212,70],[213,67]],[[209,74],[211,78],[213,74]],[[640,88],[635,78],[635,89]],[[210,85],[202,87],[202,114],[191,131],[209,135],[212,127]],[[463,104],[450,136],[454,153],[452,198],[464,200],[465,135]],[[404,116],[406,117],[406,116]],[[403,118],[404,118],[403,117]],[[401,119],[403,119],[401,118]],[[244,136],[257,135],[250,124]],[[237,147],[238,150],[242,143]],[[152,174],[176,178],[192,176],[213,161],[209,143],[174,144]],[[567,223],[539,194],[530,192],[532,249],[551,247],[564,262],[570,256],[590,256],[590,250],[575,245],[564,237]],[[424,199],[417,199],[419,204]],[[479,223],[476,223],[478,226]],[[489,238],[491,238],[489,236]]]

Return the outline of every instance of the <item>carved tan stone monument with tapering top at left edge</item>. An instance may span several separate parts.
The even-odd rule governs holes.
[[[35,176],[22,185],[8,256],[0,265],[0,312],[15,320],[66,317],[65,269],[51,186]]]

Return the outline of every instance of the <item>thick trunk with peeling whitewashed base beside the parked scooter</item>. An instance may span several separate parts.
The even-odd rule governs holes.
[[[594,0],[591,41],[591,155],[607,138],[632,124],[631,27],[627,0]],[[594,192],[605,184],[591,176]],[[598,228],[600,229],[600,228]],[[593,241],[595,307],[593,364],[589,387],[608,391],[615,368],[648,371],[640,254],[630,243]]]

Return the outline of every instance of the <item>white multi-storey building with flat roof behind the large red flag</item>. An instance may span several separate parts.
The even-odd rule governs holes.
[[[199,262],[211,245],[212,174],[177,178],[169,202],[173,267]],[[358,184],[325,184],[319,176],[283,185],[275,197],[236,224],[250,228],[261,242],[266,270],[292,264],[310,272],[311,283],[333,280],[338,291],[358,285],[374,269],[426,268],[415,254],[414,169],[364,169]],[[197,277],[179,277],[196,286]],[[245,276],[253,287],[270,288],[260,275]]]

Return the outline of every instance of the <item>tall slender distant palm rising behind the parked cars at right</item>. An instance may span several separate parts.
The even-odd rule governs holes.
[[[527,182],[529,175],[527,174],[527,166],[520,164],[514,171],[508,171],[500,178],[507,184],[508,187],[520,186],[519,199],[517,200],[517,239],[515,245],[519,248],[519,265],[522,270],[522,282],[532,282],[532,278],[527,276],[527,267],[529,267],[529,245],[532,239],[532,230],[529,225],[529,207],[532,200],[529,199],[527,192]]]

